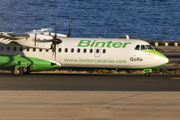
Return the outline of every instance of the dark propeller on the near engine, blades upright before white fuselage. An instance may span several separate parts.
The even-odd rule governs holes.
[[[59,24],[56,27],[56,20],[55,20],[55,33],[54,33],[54,37],[52,39],[52,45],[51,45],[52,46],[52,50],[53,50],[53,52],[55,54],[55,58],[56,58],[56,45],[62,43],[62,40],[57,38],[58,28],[59,28]]]

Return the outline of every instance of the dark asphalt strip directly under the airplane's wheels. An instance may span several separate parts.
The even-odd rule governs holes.
[[[180,91],[180,75],[0,74],[0,90]]]

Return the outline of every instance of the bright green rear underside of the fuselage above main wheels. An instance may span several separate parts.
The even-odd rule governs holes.
[[[44,59],[18,55],[0,55],[0,69],[12,70],[16,65],[20,65],[21,62],[32,66],[33,69],[31,69],[31,71],[45,71],[60,68],[59,65],[52,65],[52,62]]]

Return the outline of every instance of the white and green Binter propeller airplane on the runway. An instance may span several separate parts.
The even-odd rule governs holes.
[[[149,43],[137,39],[72,38],[34,30],[0,33],[0,69],[14,76],[58,68],[152,69],[169,60]]]

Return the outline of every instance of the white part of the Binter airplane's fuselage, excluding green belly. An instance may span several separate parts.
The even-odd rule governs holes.
[[[40,41],[34,47],[12,44],[0,44],[4,47],[0,54],[19,55],[44,59],[58,64],[60,67],[79,68],[124,68],[143,69],[153,68],[168,62],[163,55],[155,54],[155,50],[144,50],[142,45],[149,45],[145,41],[136,39],[98,39],[98,38],[60,38],[62,43],[56,45],[56,52],[52,49],[41,48],[48,46]],[[31,43],[27,41],[27,43]],[[23,43],[23,44],[26,44]],[[50,43],[49,43],[50,44]],[[31,46],[34,42],[31,43]],[[135,47],[139,45],[139,50]],[[10,47],[8,50],[7,47]],[[14,51],[16,47],[16,51]],[[39,48],[38,48],[39,47]],[[21,51],[20,49],[23,48]],[[142,50],[141,50],[142,49]],[[157,51],[155,51],[157,52]],[[55,55],[56,54],[56,55]]]

